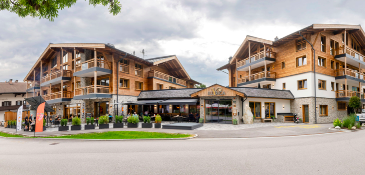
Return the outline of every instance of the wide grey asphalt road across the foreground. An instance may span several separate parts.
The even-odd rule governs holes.
[[[365,130],[164,141],[0,138],[0,175],[349,175],[364,174],[364,165]]]

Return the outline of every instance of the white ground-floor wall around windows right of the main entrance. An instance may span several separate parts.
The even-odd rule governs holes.
[[[265,118],[265,102],[274,102],[275,103],[275,117],[277,117],[277,113],[290,113],[290,100],[283,99],[270,99],[270,98],[247,98],[243,102],[244,108],[249,106],[249,102],[261,102],[261,118]],[[284,108],[283,108],[284,107]]]

